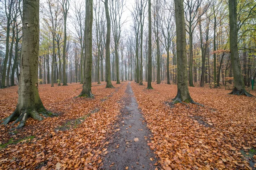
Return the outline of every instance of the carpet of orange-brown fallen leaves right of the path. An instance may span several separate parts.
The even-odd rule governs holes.
[[[131,86],[153,136],[148,146],[163,169],[248,169],[241,150],[256,146],[255,98],[189,88],[192,99],[205,107],[170,107],[166,101],[177,94],[176,85],[153,83],[154,90]]]

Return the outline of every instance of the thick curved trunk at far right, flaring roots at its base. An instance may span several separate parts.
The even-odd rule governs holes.
[[[236,13],[237,0],[229,0],[229,20],[230,20],[230,54],[231,64],[234,76],[234,88],[230,94],[253,96],[245,90],[244,81],[242,77],[241,65],[238,53],[237,43],[237,13]]]

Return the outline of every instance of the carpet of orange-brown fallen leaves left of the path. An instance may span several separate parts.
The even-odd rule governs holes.
[[[11,125],[0,125],[2,144],[26,136],[35,138],[17,144],[9,144],[0,150],[0,169],[99,169],[102,156],[108,153],[106,133],[113,133],[112,125],[118,120],[119,102],[125,93],[125,84],[116,88],[105,85],[92,87],[94,99],[74,98],[81,92],[79,84],[68,86],[39,85],[44,106],[58,113],[58,117],[39,122],[28,119],[23,129],[10,134]],[[0,119],[14,111],[17,104],[17,87],[0,89]],[[107,97],[107,98],[106,98]],[[90,114],[90,116],[87,116]],[[63,130],[59,127],[73,126]],[[82,120],[82,121],[81,121]],[[104,151],[103,151],[104,150]],[[12,161],[12,162],[11,162]]]

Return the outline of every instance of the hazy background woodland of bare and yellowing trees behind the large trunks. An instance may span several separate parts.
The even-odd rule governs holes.
[[[134,4],[111,0],[105,11],[102,0],[94,1],[91,82],[106,80],[109,87],[113,87],[111,79],[116,83],[135,80],[140,85],[149,81],[149,87],[151,81],[177,84],[174,4],[172,0],[154,0],[148,6],[147,3],[147,0],[135,0]],[[230,36],[232,28],[225,24],[230,19],[226,10],[229,3],[219,0],[185,0],[183,3],[189,85],[230,88],[234,83],[237,87],[233,67],[240,65],[244,89],[249,87],[250,80],[256,77],[255,2],[236,1],[238,62],[235,66],[233,48],[229,45],[234,38]],[[4,88],[19,83],[22,4],[21,0],[5,0],[0,4],[3,7],[0,8],[0,86]],[[88,69],[84,48],[85,3],[47,0],[42,6],[38,83],[84,84]],[[69,13],[69,9],[73,12]],[[129,11],[131,18],[126,19],[124,14]],[[148,20],[150,14],[151,20]],[[128,29],[126,21],[130,19],[132,24]],[[107,28],[111,29],[110,33]]]

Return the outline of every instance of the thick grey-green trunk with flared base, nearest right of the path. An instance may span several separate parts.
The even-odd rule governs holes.
[[[186,102],[193,103],[188,88],[188,77],[186,71],[186,32],[183,0],[174,0],[175,4],[175,20],[177,35],[177,95],[173,99],[173,103]]]

